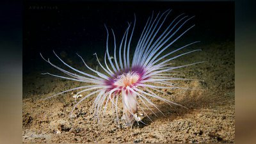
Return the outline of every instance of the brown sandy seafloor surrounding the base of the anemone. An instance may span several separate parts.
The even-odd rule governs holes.
[[[144,115],[141,119],[147,125],[134,125],[132,128],[118,129],[110,110],[107,110],[107,115],[101,119],[101,124],[96,122],[89,109],[95,97],[88,98],[79,104],[74,111],[74,118],[70,120],[70,111],[76,104],[71,92],[49,100],[42,99],[80,86],[81,83],[40,75],[42,72],[24,74],[23,142],[234,143],[234,42],[206,43],[201,44],[200,48],[202,51],[188,54],[172,62],[184,65],[195,61],[207,61],[179,69],[186,78],[204,81],[175,82],[179,86],[194,90],[162,89],[161,91],[168,93],[166,95],[156,92],[157,95],[182,104],[188,109],[175,105],[171,107],[161,100],[152,99],[152,102],[159,105],[159,109],[165,116],[161,115],[156,108],[152,108],[158,116],[156,117],[145,108],[145,112],[153,122]],[[76,65],[76,61],[70,61],[70,63]],[[121,100],[119,104],[122,105]],[[139,110],[139,113],[142,111]]]

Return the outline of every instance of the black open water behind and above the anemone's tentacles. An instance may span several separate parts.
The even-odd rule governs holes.
[[[127,22],[134,21],[136,27],[132,37],[131,51],[140,38],[148,17],[172,9],[165,24],[170,24],[177,15],[196,17],[184,26],[196,26],[182,36],[175,45],[189,44],[197,40],[201,44],[234,41],[234,2],[25,2],[23,10],[23,74],[46,72],[51,66],[40,57],[60,63],[57,54],[64,52],[64,60],[83,65],[76,52],[85,61],[93,63],[97,52],[99,58],[106,50],[106,29],[109,29],[109,51],[113,52],[113,36],[119,42],[127,28]],[[164,25],[167,26],[167,25]],[[163,27],[164,28],[164,27]],[[189,49],[189,48],[188,48]],[[70,63],[70,64],[72,64]],[[95,61],[96,63],[96,61]],[[76,65],[75,64],[75,65]]]

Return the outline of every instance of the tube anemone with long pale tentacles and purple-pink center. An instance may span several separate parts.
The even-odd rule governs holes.
[[[182,35],[187,33],[189,29],[195,26],[193,25],[183,29],[184,25],[193,17],[184,16],[184,13],[182,13],[181,15],[178,15],[175,19],[173,19],[170,24],[168,24],[167,28],[163,29],[163,24],[171,11],[172,10],[166,10],[166,12],[163,12],[162,14],[157,13],[156,17],[154,13],[152,13],[152,16],[148,18],[147,23],[143,28],[132,58],[130,56],[130,46],[136,23],[136,16],[134,15],[133,25],[131,23],[128,23],[128,27],[127,29],[125,29],[124,36],[122,36],[119,47],[117,47],[116,45],[115,33],[113,29],[111,29],[114,40],[113,57],[111,54],[109,54],[109,30],[105,25],[107,31],[107,40],[104,63],[101,63],[99,61],[98,56],[95,53],[96,60],[102,70],[104,70],[104,72],[99,72],[98,70],[94,70],[93,68],[89,67],[79,54],[77,54],[77,56],[81,58],[85,67],[91,70],[93,74],[88,74],[86,72],[82,72],[81,70],[77,70],[76,68],[71,67],[70,65],[65,63],[65,61],[61,60],[61,58],[55,52],[55,56],[65,66],[67,66],[71,70],[74,70],[76,73],[69,72],[68,70],[54,65],[49,59],[46,60],[42,56],[42,54],[40,54],[42,58],[47,61],[47,63],[52,65],[52,67],[57,68],[67,76],[59,76],[56,74],[50,74],[48,72],[45,74],[60,77],[63,79],[69,79],[72,81],[88,83],[85,86],[79,86],[77,88],[65,90],[63,92],[57,93],[56,95],[60,95],[62,93],[70,92],[73,90],[79,90],[79,92],[77,92],[77,95],[79,93],[90,91],[91,93],[79,100],[76,106],[84,99],[96,95],[92,106],[95,118],[100,120],[100,116],[102,114],[100,112],[103,112],[104,114],[106,111],[106,107],[110,103],[113,111],[115,111],[113,114],[116,117],[116,122],[119,124],[120,117],[118,116],[118,113],[122,111],[123,116],[121,120],[124,120],[125,124],[127,125],[132,125],[135,121],[140,121],[138,120],[137,116],[138,108],[141,109],[140,103],[143,104],[143,106],[146,106],[150,111],[152,111],[152,113],[154,113],[154,111],[150,108],[152,106],[160,111],[160,109],[157,108],[156,104],[154,104],[149,99],[151,97],[163,100],[168,104],[175,104],[181,106],[168,99],[164,99],[163,97],[157,95],[155,92],[163,93],[161,90],[159,90],[161,88],[180,88],[175,86],[170,81],[192,79],[173,77],[175,76],[175,74],[170,74],[170,72],[174,72],[174,70],[177,68],[188,67],[190,65],[202,63],[202,61],[187,65],[180,65],[177,67],[171,66],[170,61],[174,60],[175,58],[179,58],[180,56],[184,56],[185,54],[189,54],[191,52],[200,51],[200,49],[196,49],[176,55],[174,57],[170,57],[170,54],[173,54],[174,52],[180,51],[181,49],[198,43],[191,42],[190,44],[174,49],[173,51],[166,54],[163,53],[164,51],[166,51],[166,49],[170,48],[174,42],[179,40]],[[177,33],[180,34],[177,35]],[[172,40],[170,40],[171,38]],[[51,97],[55,97],[56,95],[52,95]],[[48,97],[47,99],[51,97]],[[118,105],[119,97],[122,97],[123,106]],[[140,100],[140,102],[138,102],[138,100]],[[72,115],[72,112],[74,111],[76,106],[74,106],[74,108],[72,109],[70,116]],[[143,111],[143,109],[141,109],[141,111]],[[145,115],[147,115],[147,113],[145,113]],[[148,118],[150,119],[150,117]]]

